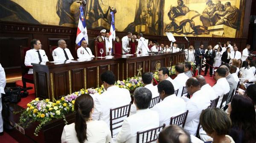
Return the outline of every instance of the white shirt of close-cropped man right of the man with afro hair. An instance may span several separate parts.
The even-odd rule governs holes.
[[[195,135],[199,118],[203,109],[210,105],[210,98],[203,90],[195,92],[186,103],[186,110],[189,110],[184,129],[191,135]]]

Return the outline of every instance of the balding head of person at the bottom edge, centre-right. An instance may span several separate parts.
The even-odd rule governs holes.
[[[177,125],[165,127],[159,134],[157,143],[191,143],[190,135]]]

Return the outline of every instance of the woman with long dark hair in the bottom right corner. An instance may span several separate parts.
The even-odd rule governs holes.
[[[244,95],[235,95],[229,104],[232,121],[229,135],[236,143],[256,143],[256,113],[253,101]]]

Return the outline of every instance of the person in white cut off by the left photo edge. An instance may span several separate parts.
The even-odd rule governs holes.
[[[2,117],[2,94],[5,94],[6,76],[2,65],[0,64],[0,136],[3,135],[3,117]]]

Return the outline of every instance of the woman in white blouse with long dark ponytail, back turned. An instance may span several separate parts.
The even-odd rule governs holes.
[[[64,126],[61,143],[112,143],[111,131],[104,121],[94,121],[93,98],[88,94],[76,98],[76,123]]]

